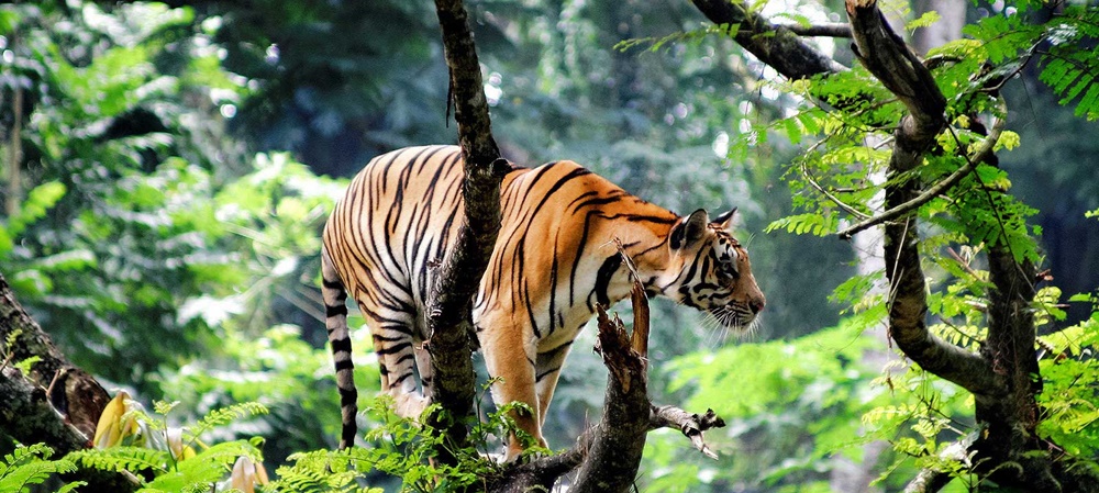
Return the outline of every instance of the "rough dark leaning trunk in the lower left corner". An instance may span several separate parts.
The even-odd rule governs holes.
[[[9,336],[12,344],[8,345]],[[110,401],[102,385],[74,367],[54,347],[49,336],[15,300],[0,273],[0,436],[21,444],[43,442],[55,457],[91,446],[99,415]],[[15,362],[37,357],[24,374]],[[137,489],[122,474],[81,469],[71,479],[87,481],[89,491],[126,492]]]

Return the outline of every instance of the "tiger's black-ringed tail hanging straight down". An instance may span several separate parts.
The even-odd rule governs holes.
[[[332,346],[332,360],[336,367],[336,389],[340,390],[340,414],[343,429],[340,433],[340,449],[355,444],[358,425],[358,390],[355,389],[355,363],[351,358],[351,333],[347,329],[347,290],[329,257],[326,248],[321,249],[321,296],[324,299],[324,326]]]

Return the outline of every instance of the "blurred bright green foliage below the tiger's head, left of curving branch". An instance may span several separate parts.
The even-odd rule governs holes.
[[[646,462],[655,469],[648,486],[695,491],[681,486],[698,477],[709,477],[714,486],[722,478],[771,489],[826,484],[826,472],[834,463],[831,457],[857,457],[852,446],[874,437],[861,432],[857,416],[886,397],[880,386],[870,384],[874,370],[862,362],[865,352],[880,343],[863,335],[859,326],[862,320],[880,315],[875,310],[866,318],[847,318],[837,327],[793,340],[731,346],[676,359],[673,390],[690,386],[693,391],[685,407],[712,407],[726,421],[729,432],[711,430],[707,442],[720,455],[736,459],[721,474],[693,457],[664,466],[670,470]],[[653,438],[646,446],[646,461],[660,461],[668,452],[659,450],[674,450],[674,440],[682,439],[674,434]],[[708,469],[711,472],[706,474]],[[684,483],[686,478],[692,479]]]

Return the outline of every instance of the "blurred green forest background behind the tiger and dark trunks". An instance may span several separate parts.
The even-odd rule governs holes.
[[[679,213],[739,208],[767,294],[763,323],[735,337],[657,303],[652,334],[653,400],[723,416],[729,426],[708,435],[720,459],[654,434],[642,491],[898,491],[922,467],[920,450],[972,425],[964,392],[930,376],[892,380],[907,362],[887,345],[882,312],[850,294],[873,282],[858,274],[880,244],[768,228],[811,193],[787,183],[811,144],[781,132],[807,102],[778,90],[770,68],[702,30],[688,2],[467,8],[506,157],[574,159]],[[843,12],[832,1],[759,8],[791,22]],[[890,2],[889,15],[903,25],[925,8]],[[1006,8],[966,3],[962,15]],[[271,466],[333,447],[320,228],[370,157],[455,142],[439,38],[432,5],[399,0],[0,5],[0,272],[74,363],[149,407],[178,402],[171,421],[254,401],[270,413],[214,438],[264,437]],[[845,40],[810,42],[854,65]],[[1058,104],[1033,66],[1002,91],[1020,145],[1000,166],[1037,210],[1041,267],[1056,288],[1046,294],[1095,294],[1099,224],[1086,213],[1099,210],[1099,125]],[[1077,300],[1041,330],[1086,324],[1094,299]],[[602,402],[606,370],[586,350],[591,332],[581,337],[547,418],[554,447]],[[369,395],[378,370],[365,328],[355,345]],[[906,410],[929,399],[945,424],[922,433]],[[1069,451],[1090,460],[1095,403],[1092,393]],[[931,446],[889,447],[906,440]]]

